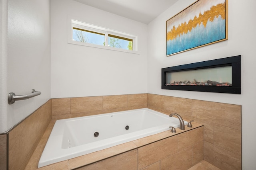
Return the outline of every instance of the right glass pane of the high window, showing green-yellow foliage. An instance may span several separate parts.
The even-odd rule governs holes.
[[[132,50],[132,39],[108,34],[108,46],[120,49]]]

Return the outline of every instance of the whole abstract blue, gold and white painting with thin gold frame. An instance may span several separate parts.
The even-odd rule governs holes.
[[[166,21],[166,56],[228,39],[228,0],[197,0]]]

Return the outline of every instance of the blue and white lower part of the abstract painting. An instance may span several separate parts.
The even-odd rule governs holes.
[[[167,41],[167,55],[178,53],[200,45],[212,43],[226,38],[226,20],[219,16],[214,21],[208,21],[206,27],[201,23],[188,31],[187,34],[180,35],[176,39]]]

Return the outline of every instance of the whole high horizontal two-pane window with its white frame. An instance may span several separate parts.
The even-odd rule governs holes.
[[[76,20],[72,20],[72,41],[69,43],[138,53],[136,36]]]

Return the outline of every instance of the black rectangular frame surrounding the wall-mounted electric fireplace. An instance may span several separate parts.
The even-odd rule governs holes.
[[[167,73],[232,66],[232,86],[166,85]],[[241,55],[162,68],[162,89],[241,94]]]

